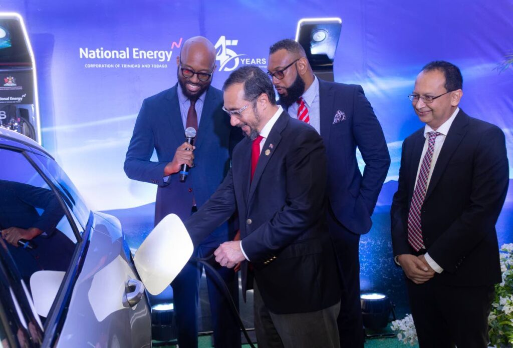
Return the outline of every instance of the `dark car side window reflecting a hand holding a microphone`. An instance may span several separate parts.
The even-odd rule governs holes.
[[[0,148],[0,163],[2,244],[31,292],[30,279],[35,272],[67,271],[77,227],[62,203],[71,205],[70,199],[58,199],[23,153]]]

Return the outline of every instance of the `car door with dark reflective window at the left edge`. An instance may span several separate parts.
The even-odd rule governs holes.
[[[51,326],[48,311],[40,315],[35,306],[34,297],[45,296],[46,292],[36,290],[40,289],[40,282],[34,280],[33,275],[41,272],[66,274],[80,241],[77,228],[69,223],[69,213],[62,198],[33,166],[27,151],[27,147],[0,139],[0,258],[2,271],[6,274],[6,283],[2,286],[2,292],[6,293],[1,297],[3,301],[11,298],[15,308],[12,315],[21,323],[17,329],[11,327],[6,337],[17,341],[14,346],[22,347],[40,346],[44,337],[41,334],[34,338],[34,329],[43,332]],[[36,235],[26,237],[27,242],[16,243],[17,237],[13,238],[34,231],[37,231]],[[56,284],[55,293],[65,290],[64,284]],[[54,298],[47,301],[48,309],[52,303],[55,306]],[[3,314],[7,316],[12,306],[2,304],[5,304]],[[29,308],[30,312],[24,308]],[[16,323],[16,320],[8,322]],[[22,336],[29,339],[21,339]]]

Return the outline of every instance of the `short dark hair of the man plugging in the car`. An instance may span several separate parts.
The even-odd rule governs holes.
[[[276,94],[272,82],[265,72],[256,65],[245,65],[235,71],[226,79],[223,91],[234,84],[244,85],[244,99],[253,101],[262,93],[267,95],[269,102],[276,105]]]

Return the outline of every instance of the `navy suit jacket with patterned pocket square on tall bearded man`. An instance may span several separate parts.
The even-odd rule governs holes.
[[[390,166],[383,130],[359,85],[319,79],[319,99],[321,136],[329,159],[331,210],[352,233],[367,233]],[[358,168],[357,147],[365,162],[363,175]]]

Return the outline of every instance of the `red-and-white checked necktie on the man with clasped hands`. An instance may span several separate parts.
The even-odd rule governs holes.
[[[420,210],[424,203],[427,191],[427,178],[431,170],[431,159],[433,158],[433,150],[435,150],[435,139],[437,136],[442,135],[438,132],[429,132],[428,147],[422,166],[420,167],[419,177],[417,178],[417,185],[413,190],[411,197],[410,210],[408,212],[408,243],[415,251],[425,249],[424,241],[422,239],[422,224],[420,220]]]

